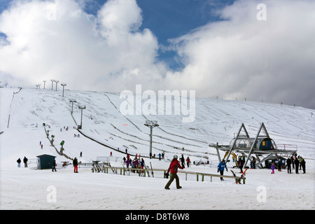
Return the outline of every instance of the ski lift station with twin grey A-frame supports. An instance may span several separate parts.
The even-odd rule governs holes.
[[[231,154],[235,157],[235,153],[240,153],[240,156],[244,158],[244,167],[246,167],[248,160],[252,161],[253,157],[255,157],[256,167],[260,169],[265,168],[269,164],[269,161],[274,160],[274,158],[290,158],[296,155],[297,152],[296,145],[276,145],[274,140],[269,137],[264,123],[260,125],[255,137],[250,137],[245,125],[241,124],[237,136],[232,139],[229,146],[219,146],[218,144],[209,146],[216,148],[220,162],[221,156],[219,150],[225,151],[223,160],[227,162]],[[237,158],[235,159],[237,160]]]

